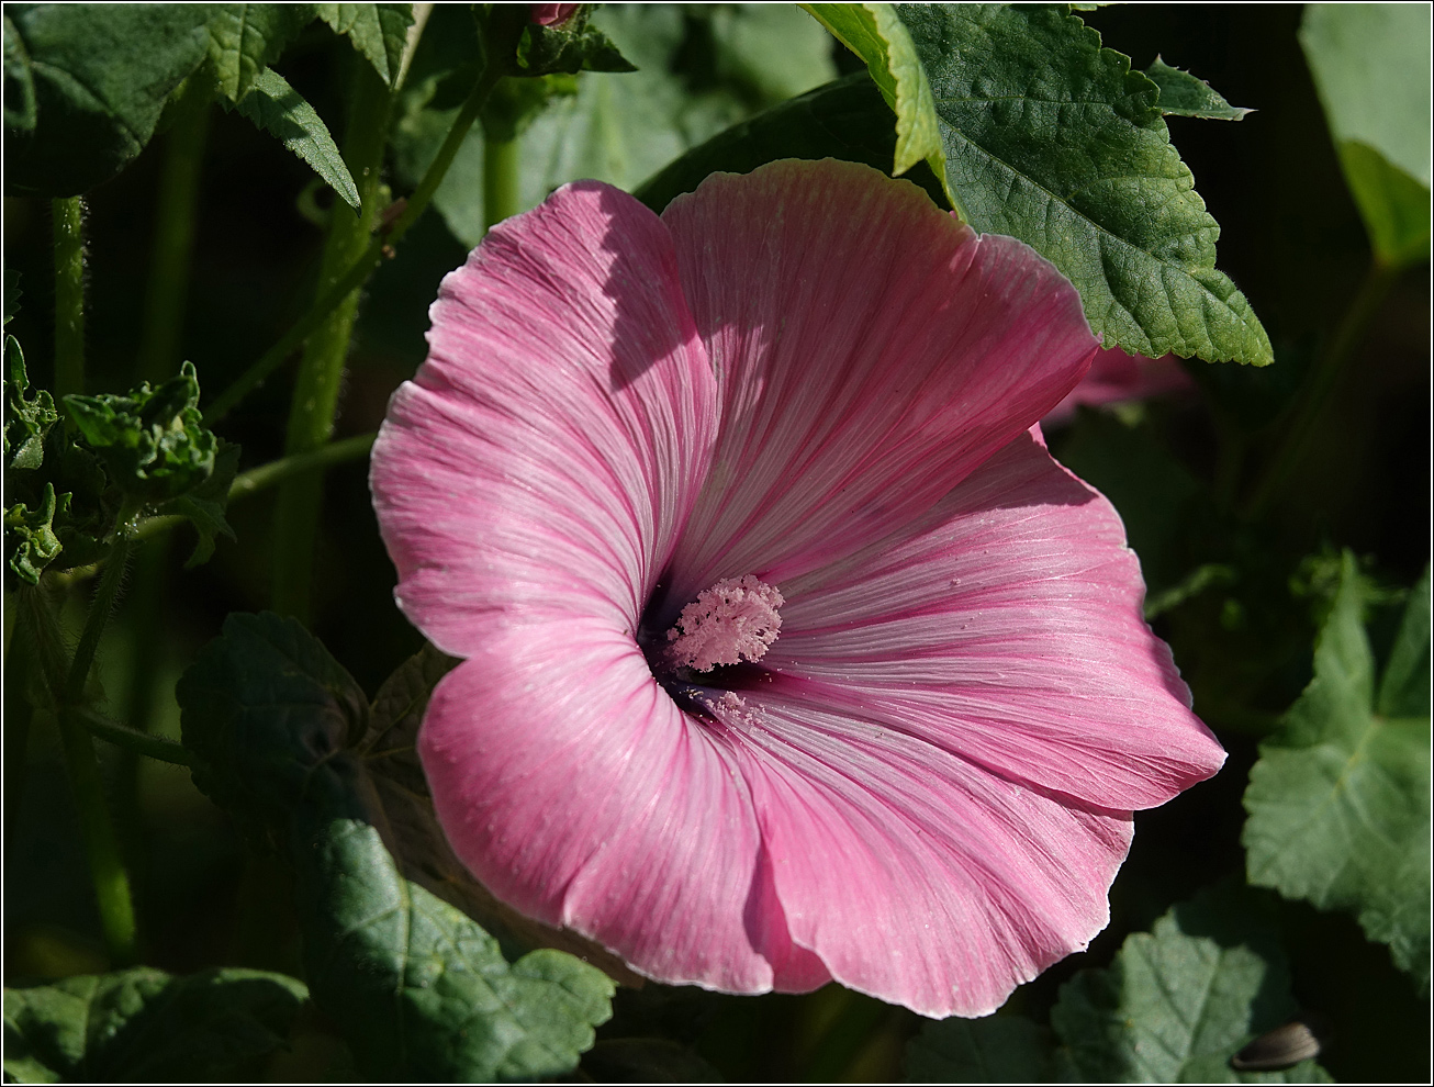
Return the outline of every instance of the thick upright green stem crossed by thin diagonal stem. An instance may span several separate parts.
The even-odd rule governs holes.
[[[383,168],[391,96],[369,65],[356,62],[354,70],[357,86],[348,113],[344,161],[358,179],[360,211],[356,215],[347,207],[334,205],[324,242],[320,297],[326,288],[344,278],[356,258],[363,257],[379,215],[379,174]],[[333,433],[338,387],[357,315],[356,288],[334,307],[304,346],[284,443],[284,452],[290,456],[321,447]],[[318,473],[287,479],[280,488],[274,511],[272,607],[280,615],[295,615],[304,622],[310,612],[323,485]]]

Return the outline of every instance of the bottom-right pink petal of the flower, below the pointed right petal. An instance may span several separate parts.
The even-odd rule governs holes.
[[[1130,815],[1007,782],[780,688],[714,701],[750,789],[792,939],[849,988],[922,1015],[985,1015],[1084,948]]]

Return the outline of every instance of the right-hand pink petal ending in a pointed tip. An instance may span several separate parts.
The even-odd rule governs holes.
[[[1032,436],[908,531],[780,589],[761,663],[789,697],[1114,809],[1225,761],[1141,617],[1119,515]]]

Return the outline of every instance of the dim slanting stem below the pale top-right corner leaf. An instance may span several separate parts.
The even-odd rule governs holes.
[[[1345,310],[1334,340],[1329,341],[1329,347],[1321,356],[1314,373],[1305,379],[1304,387],[1289,409],[1289,422],[1283,429],[1283,436],[1245,506],[1245,515],[1249,519],[1259,519],[1268,512],[1271,503],[1289,483],[1295,469],[1304,462],[1311,442],[1319,433],[1319,423],[1324,420],[1331,396],[1338,389],[1348,363],[1358,353],[1365,331],[1378,315],[1398,278],[1400,268],[1384,264],[1378,257],[1369,261],[1369,268],[1359,284],[1359,293]]]

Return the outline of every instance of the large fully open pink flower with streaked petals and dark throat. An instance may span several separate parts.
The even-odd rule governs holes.
[[[640,972],[981,1015],[1209,777],[1120,519],[1037,419],[1071,285],[843,162],[578,182],[443,281],[373,492],[465,658],[420,753],[502,901]],[[1030,427],[1030,432],[1028,432]]]

